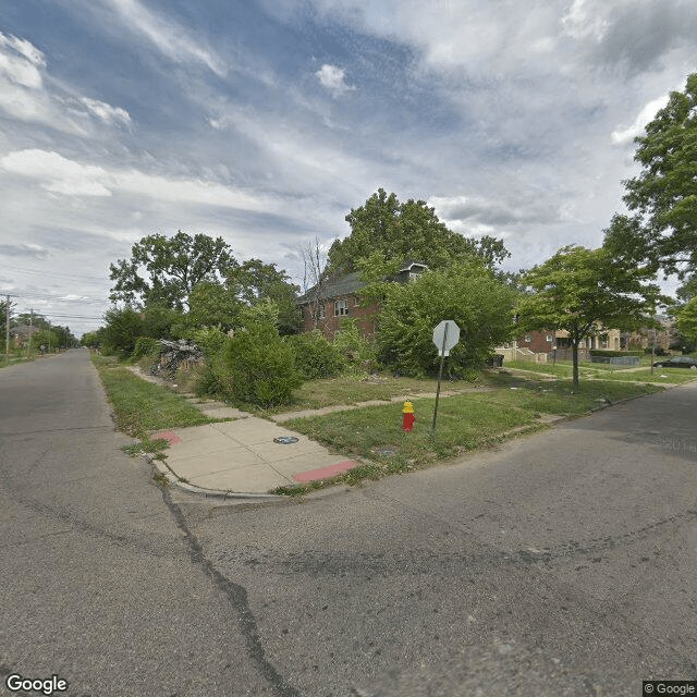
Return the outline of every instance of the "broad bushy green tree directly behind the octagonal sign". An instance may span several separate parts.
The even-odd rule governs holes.
[[[383,290],[378,357],[405,375],[438,369],[432,335],[443,319],[454,319],[462,331],[449,358],[454,371],[478,367],[510,337],[515,293],[481,264],[426,271],[409,283],[386,283]]]

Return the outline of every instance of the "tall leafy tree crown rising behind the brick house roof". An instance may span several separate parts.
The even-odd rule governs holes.
[[[509,256],[500,240],[469,240],[443,224],[426,201],[400,203],[395,194],[379,188],[346,216],[351,234],[337,240],[329,250],[328,272],[367,271],[374,279],[399,270],[405,260],[431,269],[478,257],[493,266]]]

